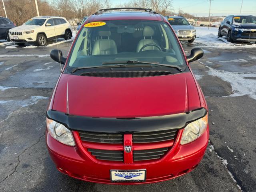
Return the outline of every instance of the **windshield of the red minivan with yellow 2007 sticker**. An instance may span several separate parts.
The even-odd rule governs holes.
[[[68,60],[71,70],[126,61],[186,68],[180,45],[165,22],[109,20],[81,27]]]

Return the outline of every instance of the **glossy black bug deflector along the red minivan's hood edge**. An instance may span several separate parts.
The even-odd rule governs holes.
[[[137,118],[95,118],[68,115],[55,110],[48,110],[46,112],[47,118],[64,124],[69,130],[102,133],[139,133],[182,129],[188,123],[198,120],[206,114],[207,110],[205,108],[199,108],[186,113]]]

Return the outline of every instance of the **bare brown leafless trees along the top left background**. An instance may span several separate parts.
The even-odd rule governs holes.
[[[37,0],[40,16],[63,16],[68,20],[79,20],[104,8],[136,7],[151,8],[162,14],[174,14],[172,0],[130,0],[112,4],[110,0]],[[30,18],[37,16],[34,0],[4,0],[7,17],[22,25]],[[0,16],[5,17],[2,1],[0,1]]]

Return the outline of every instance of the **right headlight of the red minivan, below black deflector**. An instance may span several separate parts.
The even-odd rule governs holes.
[[[206,130],[208,124],[208,114],[192,123],[189,123],[183,131],[180,144],[184,145],[196,140]]]

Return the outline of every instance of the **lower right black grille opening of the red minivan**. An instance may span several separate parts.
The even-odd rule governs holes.
[[[168,147],[158,148],[158,149],[148,149],[148,150],[134,150],[133,151],[133,160],[142,161],[142,160],[152,160],[159,159],[168,151]]]

